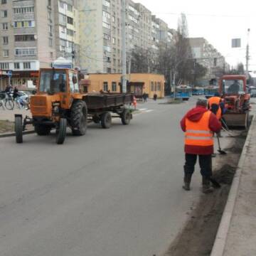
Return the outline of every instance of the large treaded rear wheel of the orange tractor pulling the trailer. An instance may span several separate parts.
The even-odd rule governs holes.
[[[85,135],[87,130],[87,106],[84,101],[77,100],[73,103],[70,124],[73,135]]]

